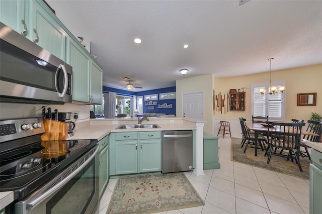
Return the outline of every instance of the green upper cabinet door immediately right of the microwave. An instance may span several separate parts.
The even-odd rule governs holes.
[[[66,62],[72,66],[72,100],[89,103],[90,56],[72,38],[67,41]]]

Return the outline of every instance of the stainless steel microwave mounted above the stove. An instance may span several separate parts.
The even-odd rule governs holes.
[[[72,67],[0,22],[0,101],[72,101]]]

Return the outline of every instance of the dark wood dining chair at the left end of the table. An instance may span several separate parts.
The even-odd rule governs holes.
[[[249,129],[247,128],[246,119],[239,118],[239,122],[240,122],[241,132],[243,133],[242,135],[243,139],[241,140],[241,148],[243,148],[244,144],[246,143],[246,146],[244,148],[244,153],[245,153],[248,147],[255,148],[255,134],[253,132],[250,132]],[[264,151],[265,144],[263,143],[263,141],[266,141],[266,138],[263,135],[259,134],[257,137],[257,140],[258,140],[258,144],[257,144],[258,148]],[[265,148],[265,151],[266,151],[266,148]]]

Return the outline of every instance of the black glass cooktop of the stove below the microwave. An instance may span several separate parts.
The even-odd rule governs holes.
[[[39,141],[0,154],[0,190],[21,199],[81,157],[97,140]]]

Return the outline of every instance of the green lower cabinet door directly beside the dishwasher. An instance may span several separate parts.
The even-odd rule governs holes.
[[[140,141],[140,172],[161,171],[161,140]]]

